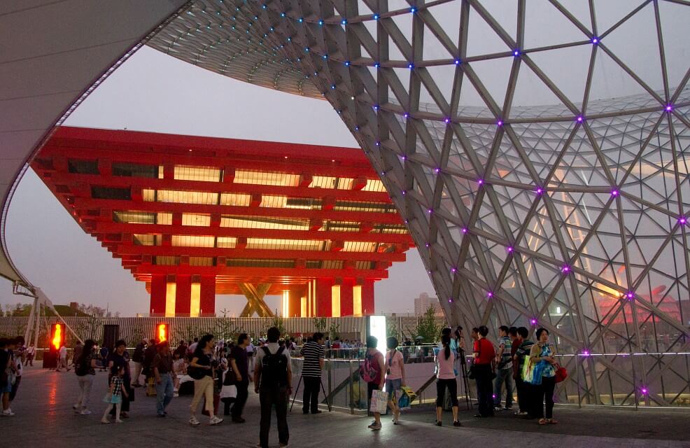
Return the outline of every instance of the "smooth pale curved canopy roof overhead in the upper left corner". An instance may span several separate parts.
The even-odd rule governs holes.
[[[13,186],[53,126],[184,0],[0,2],[0,276],[27,283],[4,239]]]

